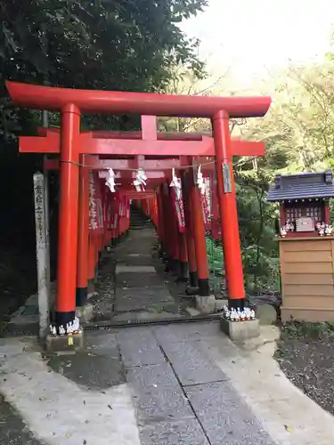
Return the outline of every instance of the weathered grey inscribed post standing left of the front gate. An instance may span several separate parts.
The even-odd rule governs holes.
[[[50,259],[47,248],[47,228],[45,216],[45,177],[34,174],[35,221],[36,221],[36,256],[38,284],[39,337],[45,338],[50,320]]]

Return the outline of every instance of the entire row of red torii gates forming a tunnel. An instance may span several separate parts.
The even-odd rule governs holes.
[[[221,223],[229,305],[244,306],[232,157],[264,156],[265,144],[233,140],[229,118],[265,116],[271,103],[269,97],[119,93],[15,82],[7,82],[6,86],[12,101],[18,106],[61,112],[60,131],[40,128],[38,136],[20,137],[21,153],[58,155],[45,161],[46,168],[60,170],[55,302],[58,328],[74,320],[76,304],[85,303],[87,283],[94,278],[99,250],[110,239],[116,239],[127,231],[130,199],[140,201],[151,216],[167,256],[179,263],[189,263],[191,286],[199,287],[200,295],[209,295],[205,225],[200,190],[194,180],[194,171],[199,165],[202,165],[204,176],[216,174],[217,217]],[[81,132],[81,113],[138,114],[142,116],[142,131]],[[157,116],[207,117],[211,119],[213,134],[159,133]],[[100,189],[101,202],[104,199],[104,223],[93,227],[90,217],[92,172],[96,179],[96,172],[103,177],[102,171],[108,168],[116,173],[118,192],[111,193],[105,186]],[[145,191],[134,190],[132,182],[138,168],[143,168],[148,178]],[[173,217],[172,194],[166,187],[171,180],[172,169],[179,175],[182,173],[183,232],[178,230]],[[97,221],[99,209],[96,213]]]

